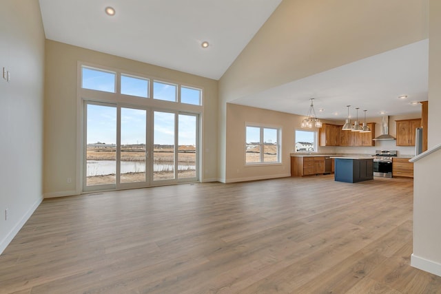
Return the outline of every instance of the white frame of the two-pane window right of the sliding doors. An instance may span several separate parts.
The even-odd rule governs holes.
[[[259,128],[259,158],[258,162],[247,162],[247,127],[256,127]],[[276,161],[265,162],[265,129],[275,129],[277,132],[277,142],[276,142]],[[245,123],[245,166],[256,166],[256,165],[281,165],[282,164],[282,127],[275,125],[260,125],[257,123]]]

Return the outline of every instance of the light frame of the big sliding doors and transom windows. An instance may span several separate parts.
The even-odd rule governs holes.
[[[111,72],[112,74],[116,74],[115,76],[115,92],[103,92],[100,90],[93,90],[88,88],[83,88],[83,68],[90,68],[92,70],[98,70],[102,72]],[[148,81],[148,94],[149,97],[140,97],[140,96],[132,96],[127,94],[121,94],[121,76],[132,76],[135,78],[142,78]],[[87,104],[105,104],[105,105],[116,105],[117,109],[121,109],[121,107],[129,107],[129,108],[136,108],[136,109],[145,109],[147,110],[147,138],[149,138],[150,142],[153,142],[153,112],[154,111],[161,111],[161,112],[172,112],[178,117],[179,114],[186,114],[186,115],[192,115],[196,117],[196,175],[193,177],[188,178],[181,178],[178,175],[174,180],[157,180],[154,181],[152,179],[152,176],[147,178],[147,182],[130,182],[130,183],[122,183],[119,182],[119,180],[116,180],[116,187],[112,185],[112,187],[108,187],[108,189],[132,189],[132,188],[138,188],[138,187],[154,187],[157,185],[174,185],[178,182],[203,182],[204,181],[204,173],[202,171],[203,168],[203,156],[201,149],[203,148],[203,141],[202,141],[202,120],[204,117],[204,106],[201,105],[194,105],[194,104],[188,104],[188,103],[181,103],[180,102],[180,90],[179,88],[181,85],[185,87],[192,87],[196,90],[201,91],[201,103],[204,100],[204,93],[205,89],[204,87],[201,87],[200,85],[190,85],[188,83],[183,83],[182,81],[172,81],[172,80],[166,80],[164,78],[158,78],[157,76],[150,76],[148,74],[143,74],[140,72],[129,72],[127,70],[123,70],[121,68],[115,68],[115,67],[108,67],[105,65],[98,65],[94,63],[88,63],[85,61],[77,61],[77,73],[76,73],[76,97],[77,97],[77,103],[76,103],[76,109],[77,109],[77,132],[76,132],[76,138],[77,140],[77,149],[76,149],[76,156],[78,158],[85,158],[85,151],[87,148],[87,140],[84,137],[85,134],[85,127],[87,123],[85,122],[85,119],[87,119],[87,112],[85,112],[85,105]],[[176,87],[176,101],[174,103],[171,103],[171,101],[164,101],[160,99],[154,99],[153,98],[153,81],[159,81],[160,83],[166,83],[166,84],[172,84]],[[117,121],[121,121],[121,112],[118,110],[119,114],[117,117]],[[121,127],[119,125],[119,127]],[[175,122],[175,127],[178,127],[178,122]],[[176,129],[178,131],[178,129]],[[120,134],[121,129],[118,129],[117,134]],[[178,134],[175,134],[178,136]],[[117,136],[121,136],[117,135]],[[119,138],[117,138],[119,140]],[[178,144],[178,138],[175,138],[176,144]],[[147,141],[146,141],[147,145]],[[147,156],[147,161],[151,160],[153,162],[153,155],[152,152],[154,151],[153,147],[151,150],[149,149],[148,152],[150,155]],[[178,154],[176,153],[176,157]],[[76,191],[78,193],[83,193],[85,191],[101,191],[103,190],[103,185],[95,185],[95,186],[87,186],[85,185],[86,179],[86,173],[84,171],[85,165],[87,163],[83,162],[84,160],[79,160],[76,164]],[[178,160],[176,160],[176,165]],[[117,158],[117,164],[119,164],[118,158]],[[147,163],[147,168],[152,169],[153,167],[150,167],[151,162]],[[120,171],[117,170],[116,176],[119,176]],[[175,172],[178,172],[178,167],[176,166]],[[87,187],[85,187],[87,186]],[[107,189],[107,187],[105,187]]]

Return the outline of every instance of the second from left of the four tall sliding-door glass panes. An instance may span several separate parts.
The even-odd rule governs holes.
[[[145,120],[143,109],[121,108],[120,182],[145,182]]]

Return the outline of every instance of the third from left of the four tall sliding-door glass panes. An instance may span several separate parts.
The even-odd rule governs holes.
[[[154,112],[153,180],[174,179],[174,114]]]

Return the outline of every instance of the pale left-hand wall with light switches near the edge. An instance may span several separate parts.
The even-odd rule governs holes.
[[[44,32],[39,2],[0,6],[0,253],[42,196]],[[5,210],[8,209],[8,220]]]

